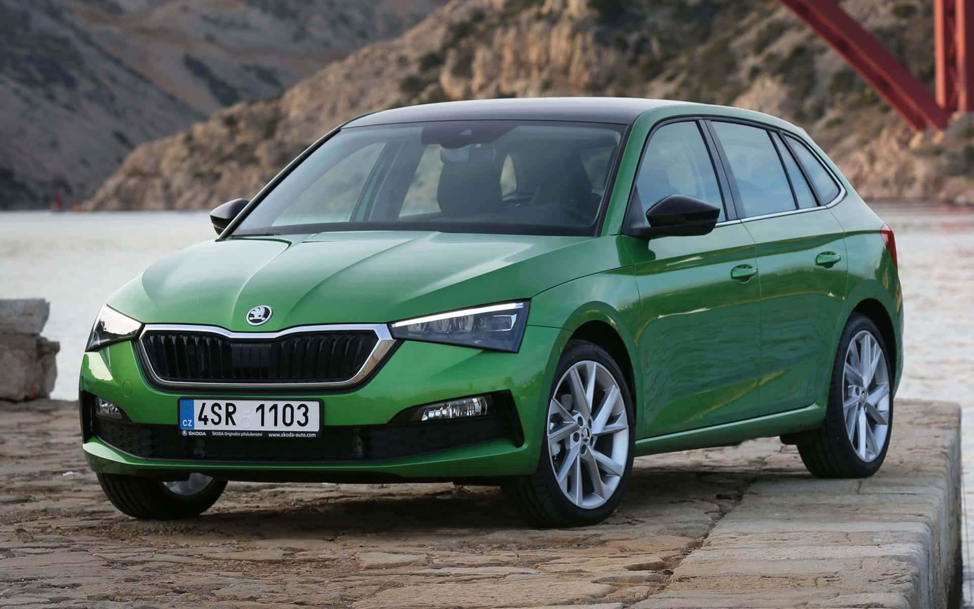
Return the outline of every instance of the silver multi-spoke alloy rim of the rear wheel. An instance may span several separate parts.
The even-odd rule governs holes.
[[[859,459],[874,461],[889,433],[889,369],[880,342],[869,330],[856,333],[845,351],[843,421]]]

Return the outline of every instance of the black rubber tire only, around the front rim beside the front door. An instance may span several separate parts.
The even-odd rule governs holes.
[[[565,494],[562,492],[561,487],[558,485],[558,482],[555,479],[555,473],[551,465],[551,457],[548,452],[547,442],[547,404],[550,403],[551,399],[554,397],[554,392],[557,389],[558,382],[561,380],[561,377],[564,376],[565,372],[576,363],[584,361],[601,363],[613,375],[613,378],[618,383],[619,388],[622,389],[622,400],[625,404],[626,418],[629,423],[629,452],[628,457],[626,458],[625,471],[622,473],[622,479],[619,480],[616,490],[604,504],[598,508],[593,508],[590,510],[576,506],[567,497],[565,497]],[[633,414],[632,402],[632,389],[629,387],[628,383],[626,383],[625,376],[622,374],[622,370],[619,368],[618,363],[613,360],[612,356],[610,356],[605,349],[587,341],[569,341],[568,345],[565,347],[565,351],[562,354],[561,359],[558,361],[557,367],[555,368],[554,377],[551,381],[551,388],[548,390],[548,400],[544,405],[541,457],[538,463],[538,472],[535,475],[538,478],[537,481],[543,485],[543,489],[552,498],[552,508],[554,508],[559,516],[561,516],[561,518],[569,525],[580,526],[600,522],[608,517],[609,514],[612,514],[616,508],[618,508],[618,504],[622,500],[622,495],[625,494],[625,487],[627,486],[629,478],[632,475],[632,462],[636,441],[635,416]]]

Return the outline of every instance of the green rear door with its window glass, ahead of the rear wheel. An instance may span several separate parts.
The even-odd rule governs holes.
[[[843,229],[825,207],[839,188],[820,192],[814,186],[796,159],[794,146],[804,144],[791,136],[738,122],[713,120],[709,127],[757,246],[764,413],[807,406],[828,383],[843,311]]]

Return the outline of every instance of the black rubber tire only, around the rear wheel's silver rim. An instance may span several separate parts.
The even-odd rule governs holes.
[[[856,454],[855,448],[852,446],[852,440],[849,439],[845,431],[845,419],[843,416],[843,370],[845,368],[845,353],[848,350],[852,338],[862,330],[868,330],[880,344],[882,357],[886,361],[886,369],[889,371],[890,391],[889,427],[886,432],[886,441],[882,445],[880,454],[877,455],[876,459],[868,462],[863,461]],[[842,338],[839,341],[839,351],[836,353],[836,361],[832,368],[832,382],[829,387],[829,405],[825,413],[826,434],[828,435],[829,441],[835,445],[839,455],[851,470],[853,476],[850,477],[866,477],[876,474],[883,460],[886,458],[886,451],[889,449],[889,440],[893,436],[893,369],[891,362],[889,362],[889,351],[886,349],[886,343],[882,339],[880,329],[869,318],[858,314],[853,315],[849,319],[848,324],[845,324]]]

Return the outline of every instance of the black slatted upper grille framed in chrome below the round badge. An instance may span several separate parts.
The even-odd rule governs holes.
[[[341,383],[356,376],[379,337],[371,330],[241,338],[146,330],[139,338],[155,376],[168,383]]]

